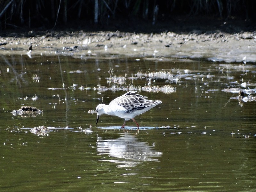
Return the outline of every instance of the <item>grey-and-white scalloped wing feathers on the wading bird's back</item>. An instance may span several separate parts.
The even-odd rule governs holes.
[[[117,97],[111,101],[109,105],[117,104],[124,107],[126,109],[126,113],[131,113],[132,111],[144,109],[158,104],[159,102],[160,101],[148,100],[146,96],[136,94],[134,91],[130,91],[120,97]]]

